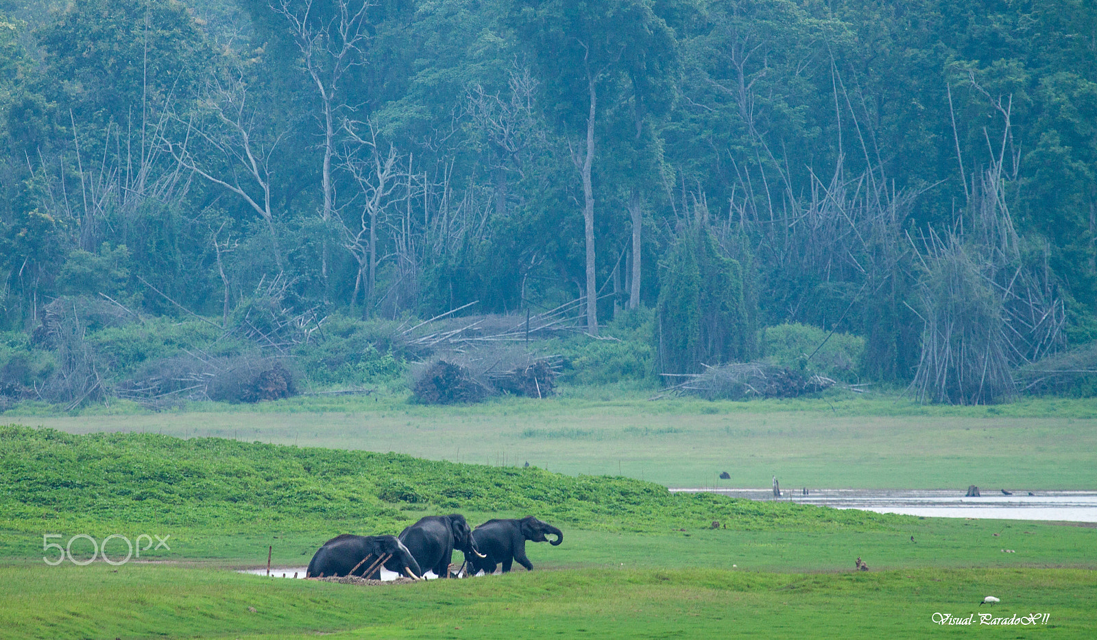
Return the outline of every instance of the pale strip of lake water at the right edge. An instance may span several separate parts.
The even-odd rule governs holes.
[[[811,489],[802,495],[799,487],[782,490],[774,498],[762,489],[671,489],[672,492],[709,492],[757,501],[782,499],[839,509],[863,509],[879,514],[905,514],[935,518],[987,518],[1006,520],[1056,520],[1097,523],[1097,492],[1092,491],[1015,491],[980,489],[980,497],[964,497],[966,489],[955,490],[858,490]]]

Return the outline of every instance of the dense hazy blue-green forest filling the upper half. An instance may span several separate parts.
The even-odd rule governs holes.
[[[927,401],[1094,368],[1086,0],[0,0],[0,138],[11,396],[572,301],[642,377],[777,326]]]

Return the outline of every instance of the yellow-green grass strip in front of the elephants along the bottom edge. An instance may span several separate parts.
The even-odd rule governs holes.
[[[125,565],[7,568],[7,638],[1086,638],[1097,576],[1072,570],[773,574],[728,570],[511,573],[397,587]],[[1002,604],[980,608],[984,595]],[[1017,627],[955,616],[1048,614]]]

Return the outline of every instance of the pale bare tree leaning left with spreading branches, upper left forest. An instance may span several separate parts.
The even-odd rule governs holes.
[[[282,250],[271,205],[273,173],[271,157],[283,134],[263,138],[257,110],[248,103],[242,72],[213,77],[206,85],[199,116],[176,120],[183,126],[178,141],[161,135],[166,148],[180,166],[240,198],[267,224],[274,261],[283,268]]]

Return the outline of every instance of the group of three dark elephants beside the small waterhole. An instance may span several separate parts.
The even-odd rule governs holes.
[[[546,536],[555,536],[548,540]],[[428,571],[439,577],[450,577],[453,552],[461,551],[468,565],[468,575],[510,571],[517,560],[528,571],[533,563],[525,557],[525,541],[564,541],[556,527],[533,516],[521,519],[488,520],[475,529],[461,514],[427,516],[405,528],[397,536],[353,536],[343,534],[328,540],[313,555],[306,577],[340,577],[355,575],[371,580],[381,577],[381,568],[420,580]]]

